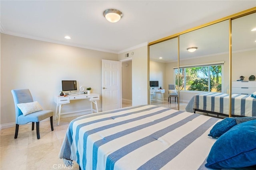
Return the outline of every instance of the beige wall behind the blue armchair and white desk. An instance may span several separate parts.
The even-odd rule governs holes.
[[[61,80],[77,80],[101,96],[101,60],[118,55],[1,34],[1,125],[15,122],[12,89],[29,88],[34,101],[55,112]],[[71,101],[63,112],[90,110],[90,102]],[[102,108],[101,100],[98,108]]]

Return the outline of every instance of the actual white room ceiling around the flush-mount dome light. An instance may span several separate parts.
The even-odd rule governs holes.
[[[123,53],[256,6],[256,0],[1,0],[1,33]],[[123,17],[110,23],[103,11]],[[69,35],[71,39],[65,39]]]

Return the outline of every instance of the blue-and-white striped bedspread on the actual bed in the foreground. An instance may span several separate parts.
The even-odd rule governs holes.
[[[203,170],[220,120],[154,105],[88,114],[70,122],[59,157],[84,170]]]

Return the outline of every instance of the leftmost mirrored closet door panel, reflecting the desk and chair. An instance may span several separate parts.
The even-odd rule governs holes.
[[[150,104],[178,109],[174,66],[178,66],[178,38],[149,46]],[[169,95],[169,93],[176,93]],[[176,100],[176,102],[175,102]]]

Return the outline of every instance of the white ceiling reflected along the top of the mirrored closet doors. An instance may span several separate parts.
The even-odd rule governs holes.
[[[232,20],[232,53],[256,51],[256,31],[251,31],[254,28],[256,13]],[[188,47],[198,49],[190,53]],[[229,20],[181,34],[179,49],[180,60],[228,55]],[[150,60],[162,63],[178,61],[178,38],[150,45]]]

